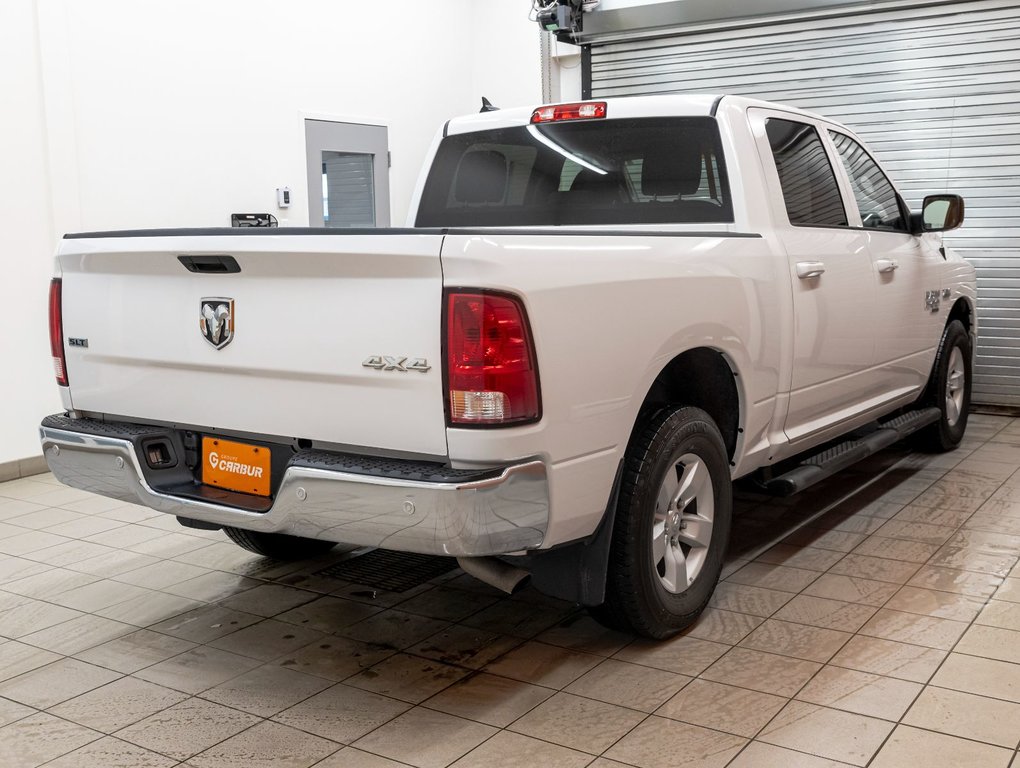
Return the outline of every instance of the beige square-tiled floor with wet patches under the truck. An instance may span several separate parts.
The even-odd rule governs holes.
[[[1020,420],[744,490],[684,635],[459,571],[405,594],[0,484],[0,766],[1020,768]]]

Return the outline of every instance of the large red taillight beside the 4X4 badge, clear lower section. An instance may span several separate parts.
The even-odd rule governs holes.
[[[509,424],[541,415],[531,330],[520,300],[447,295],[449,423]]]

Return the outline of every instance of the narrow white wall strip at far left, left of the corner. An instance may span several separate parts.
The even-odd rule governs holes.
[[[33,0],[0,22],[0,464],[38,455],[40,417],[60,410],[47,325],[55,238]]]

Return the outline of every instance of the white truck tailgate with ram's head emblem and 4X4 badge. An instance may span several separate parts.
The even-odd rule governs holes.
[[[74,409],[445,456],[442,236],[273,233],[64,240]]]

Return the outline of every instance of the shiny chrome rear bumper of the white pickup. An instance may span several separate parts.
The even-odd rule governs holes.
[[[64,423],[67,423],[66,420]],[[484,479],[432,482],[289,465],[265,512],[154,490],[129,439],[40,427],[61,482],[181,517],[248,530],[476,557],[536,549],[549,522],[546,467],[528,461]]]

